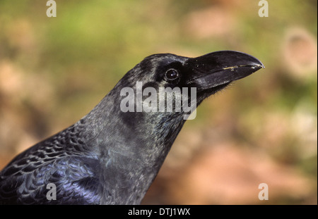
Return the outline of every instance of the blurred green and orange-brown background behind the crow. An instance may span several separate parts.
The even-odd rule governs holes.
[[[0,0],[0,169],[144,57],[237,50],[266,68],[188,120],[142,204],[317,204],[317,1]],[[258,198],[260,183],[269,200]]]

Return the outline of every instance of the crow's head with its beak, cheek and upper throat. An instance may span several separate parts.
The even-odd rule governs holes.
[[[127,132],[143,136],[137,132],[147,130],[154,143],[171,146],[201,101],[260,68],[264,65],[257,58],[237,51],[196,58],[155,54],[129,70],[105,102],[112,103],[108,107],[119,113]]]

